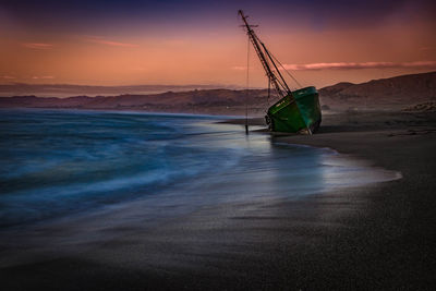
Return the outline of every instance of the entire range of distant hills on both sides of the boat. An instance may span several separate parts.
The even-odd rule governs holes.
[[[436,72],[373,80],[362,84],[338,83],[319,89],[324,109],[402,109],[436,100]],[[160,94],[75,96],[68,98],[0,97],[0,108],[77,108],[241,114],[247,105],[251,114],[264,114],[274,100],[266,89],[194,89]]]

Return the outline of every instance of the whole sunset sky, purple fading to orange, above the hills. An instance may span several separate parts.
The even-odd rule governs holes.
[[[266,87],[239,9],[303,86],[436,71],[429,0],[0,0],[0,84]]]

